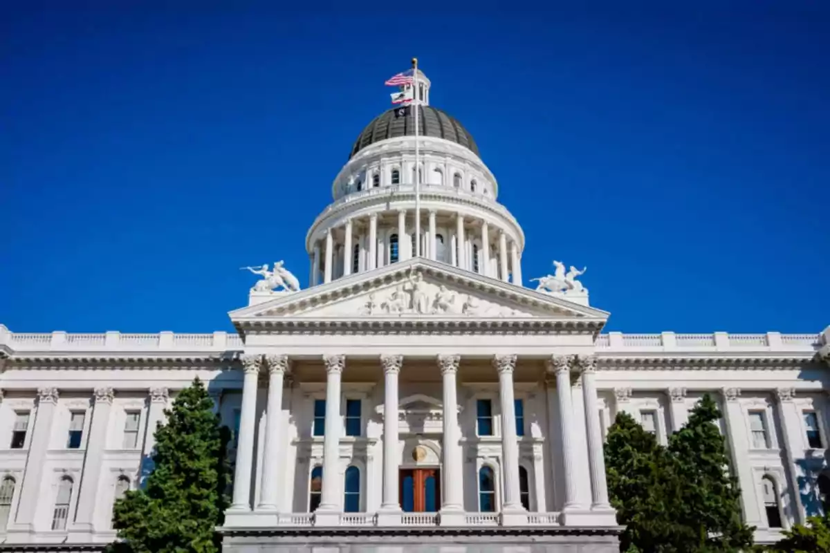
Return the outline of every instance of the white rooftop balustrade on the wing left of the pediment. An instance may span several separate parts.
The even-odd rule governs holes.
[[[12,352],[194,352],[217,353],[242,350],[237,334],[75,334],[68,332],[9,332],[0,325],[0,347]]]

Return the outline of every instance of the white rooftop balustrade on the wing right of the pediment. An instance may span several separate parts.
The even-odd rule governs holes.
[[[822,347],[821,334],[623,334],[608,332],[597,337],[600,352],[816,352]]]

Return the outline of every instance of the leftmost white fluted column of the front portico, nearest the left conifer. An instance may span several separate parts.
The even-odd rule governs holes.
[[[239,414],[237,470],[233,477],[233,503],[230,511],[251,510],[251,467],[254,459],[256,431],[256,381],[262,364],[261,355],[243,355],[242,410]]]

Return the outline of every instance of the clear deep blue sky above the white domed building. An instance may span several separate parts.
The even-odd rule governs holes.
[[[525,279],[588,265],[608,330],[830,324],[830,2],[164,3],[0,7],[13,331],[227,330],[238,267],[305,285],[411,56],[524,227]]]

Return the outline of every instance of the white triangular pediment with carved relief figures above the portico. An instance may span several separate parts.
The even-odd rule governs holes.
[[[235,324],[266,320],[564,320],[608,313],[431,260],[408,260],[284,293],[229,313]]]

